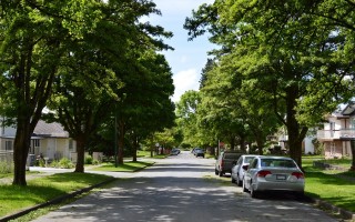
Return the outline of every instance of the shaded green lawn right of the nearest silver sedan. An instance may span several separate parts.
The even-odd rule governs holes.
[[[306,172],[306,194],[355,212],[355,172],[317,169],[313,167],[313,161],[315,160],[320,160],[320,157],[306,157],[303,159],[303,168]],[[344,169],[351,168],[349,159],[321,160],[341,165]]]

